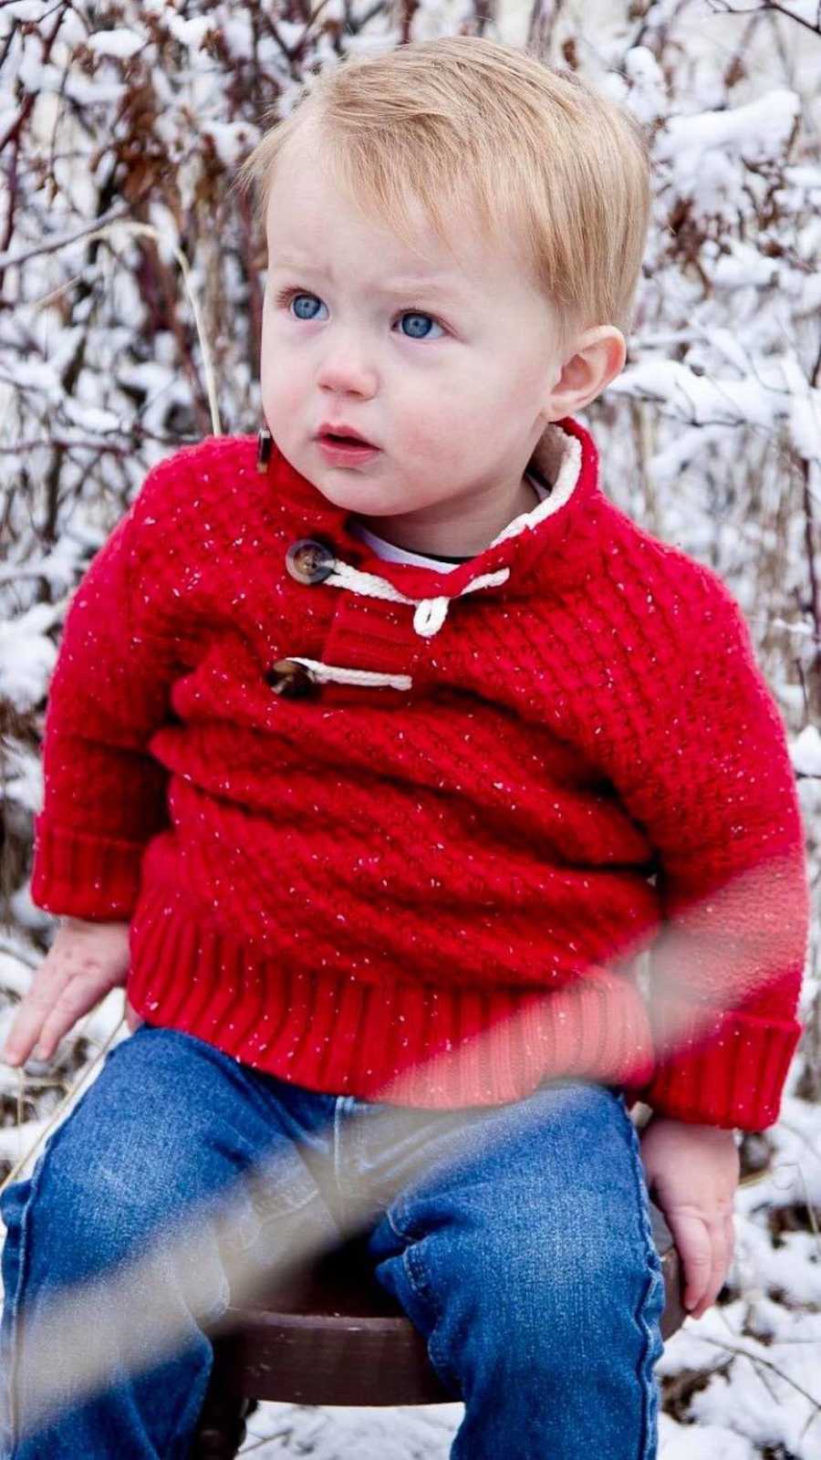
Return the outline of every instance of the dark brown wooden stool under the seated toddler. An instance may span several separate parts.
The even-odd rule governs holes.
[[[687,1317],[678,1253],[650,1203],[653,1241],[665,1275],[662,1337]],[[256,1400],[292,1405],[453,1405],[427,1345],[380,1286],[367,1234],[351,1238],[260,1295],[229,1308],[215,1339],[213,1372],[191,1460],[232,1460]]]

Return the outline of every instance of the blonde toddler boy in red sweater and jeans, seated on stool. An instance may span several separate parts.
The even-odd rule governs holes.
[[[72,604],[32,876],[67,921],[6,1058],[127,978],[143,1025],[86,1102],[108,1165],[139,1139],[156,1172],[139,1091],[167,1080],[180,1118],[196,1091],[188,1196],[216,1186],[197,1150],[228,1089],[245,1115],[273,1092],[280,1137],[298,1099],[497,1118],[373,1242],[465,1397],[453,1454],[649,1456],[646,1183],[698,1315],[732,1256],[733,1129],[777,1118],[801,1034],[806,877],[742,615],[608,499],[577,419],[624,366],[646,149],[578,77],[451,36],[323,73],[250,180],[266,429],[156,466]],[[641,1162],[622,1092],[653,1111]],[[15,1253],[37,1203],[35,1245],[92,1204],[60,1197],[96,1159],[80,1108],[42,1158],[48,1222],[42,1180],[6,1194]],[[75,1247],[25,1296],[91,1270]],[[134,1380],[50,1456],[114,1454],[127,1425],[129,1453],[183,1453],[158,1435],[196,1421],[191,1343],[159,1418]]]

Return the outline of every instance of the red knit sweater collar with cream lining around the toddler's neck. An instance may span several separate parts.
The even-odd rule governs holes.
[[[444,571],[380,558],[351,531],[352,514],[329,502],[276,450],[269,479],[276,495],[299,514],[301,534],[332,548],[336,568],[326,580],[330,585],[415,604],[413,628],[431,637],[444,623],[450,600],[466,593],[526,596],[535,572],[555,585],[586,559],[603,502],[590,432],[564,416],[545,428],[530,460],[552,482],[548,496],[508,523],[482,552]]]

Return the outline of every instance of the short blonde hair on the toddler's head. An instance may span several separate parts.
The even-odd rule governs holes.
[[[590,83],[484,36],[346,57],[305,83],[237,184],[264,219],[276,164],[313,123],[333,185],[410,248],[412,194],[450,248],[448,219],[513,245],[560,318],[630,333],[650,220],[640,124]]]

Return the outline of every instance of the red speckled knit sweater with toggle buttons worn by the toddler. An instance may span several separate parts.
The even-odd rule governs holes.
[[[720,580],[608,501],[570,418],[545,501],[441,572],[254,456],[155,467],[75,596],[34,901],[130,920],[145,1019],[314,1089],[581,1076],[771,1124],[803,828]]]

